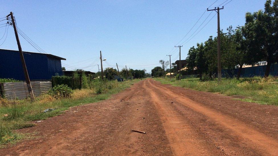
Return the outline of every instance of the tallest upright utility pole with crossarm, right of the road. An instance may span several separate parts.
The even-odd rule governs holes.
[[[216,7],[212,10],[207,9],[207,11],[216,11],[217,13],[217,64],[218,64],[218,81],[221,81],[222,74],[221,74],[221,51],[220,51],[220,16],[219,16],[219,10],[224,9],[224,6],[222,8]]]

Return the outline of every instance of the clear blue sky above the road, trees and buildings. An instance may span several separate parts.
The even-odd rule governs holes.
[[[150,72],[152,68],[159,66],[152,64],[158,64],[161,59],[169,59],[165,55],[170,54],[173,46],[185,36],[214,1],[11,0],[2,1],[0,17],[12,11],[17,26],[47,53],[66,58],[66,61],[62,61],[66,65],[79,68],[100,65],[98,58],[101,50],[104,58],[111,65],[118,63],[120,69],[127,65],[128,68],[145,68],[147,72]],[[218,0],[210,9],[224,1]],[[220,28],[226,30],[230,25],[233,27],[244,25],[245,13],[264,9],[264,3],[265,0],[231,1],[220,11]],[[185,39],[199,27],[209,13],[206,12],[203,15]],[[214,14],[215,12],[211,13],[207,21]],[[2,23],[3,21],[0,22]],[[0,28],[0,38],[4,32],[5,27]],[[197,42],[206,41],[211,35],[217,35],[217,15],[199,34],[183,45],[181,58],[187,57],[190,47],[196,45]],[[0,44],[4,38],[0,40]],[[37,52],[21,36],[20,41],[23,51]],[[11,27],[6,41],[0,48],[18,50]],[[177,59],[177,56],[176,51],[171,57],[172,62]],[[105,65],[104,68],[107,67],[106,62],[103,65]],[[70,68],[67,69],[70,70]],[[85,70],[96,72],[98,68],[96,65]]]

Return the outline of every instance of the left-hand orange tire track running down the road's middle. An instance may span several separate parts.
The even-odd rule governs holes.
[[[163,120],[163,127],[175,155],[213,155],[212,152],[208,151],[205,143],[202,140],[198,140],[196,134],[183,121],[181,116],[166,105],[160,99],[162,96],[152,89],[152,85],[149,82],[148,84],[146,82],[144,81],[143,88],[149,93],[152,99],[151,102],[155,105],[160,118]]]

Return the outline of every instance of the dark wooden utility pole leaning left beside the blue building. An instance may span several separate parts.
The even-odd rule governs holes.
[[[24,71],[24,75],[25,75],[25,79],[26,79],[26,84],[27,84],[27,88],[28,88],[28,92],[29,92],[29,96],[30,96],[31,100],[35,100],[34,93],[33,93],[33,90],[32,90],[32,85],[30,83],[30,78],[29,78],[27,67],[26,67],[26,64],[25,64],[24,56],[23,56],[23,53],[22,53],[21,45],[20,45],[20,42],[19,42],[19,37],[18,37],[18,34],[17,34],[17,28],[16,28],[16,25],[15,25],[15,19],[14,19],[13,13],[11,12],[9,15],[7,15],[7,19],[9,18],[9,16],[11,16],[11,19],[12,19],[12,22],[13,22],[13,29],[15,30],[15,38],[17,39],[17,46],[18,46],[18,50],[19,50],[19,56],[20,56],[20,59],[21,59],[21,63],[22,63],[22,67],[23,67],[23,71]]]

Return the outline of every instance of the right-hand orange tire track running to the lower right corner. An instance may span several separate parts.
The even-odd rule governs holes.
[[[214,120],[216,124],[220,124],[230,129],[232,133],[243,138],[242,140],[244,140],[246,144],[259,149],[260,151],[262,151],[262,153],[265,153],[265,155],[278,155],[277,140],[258,132],[257,130],[240,121],[234,120],[233,118],[213,111],[201,105],[200,103],[196,103],[195,101],[185,97],[183,94],[174,93],[172,90],[169,90],[166,87],[157,85],[154,83],[153,80],[149,79],[148,82],[150,82],[152,87],[156,88],[157,90],[163,90],[165,93],[175,98],[176,101],[178,101],[179,103],[204,114],[205,116]]]

